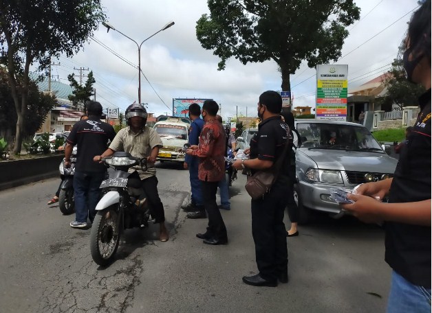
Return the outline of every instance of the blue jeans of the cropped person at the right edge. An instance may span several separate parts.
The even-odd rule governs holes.
[[[431,313],[431,288],[415,286],[393,270],[387,313]]]

